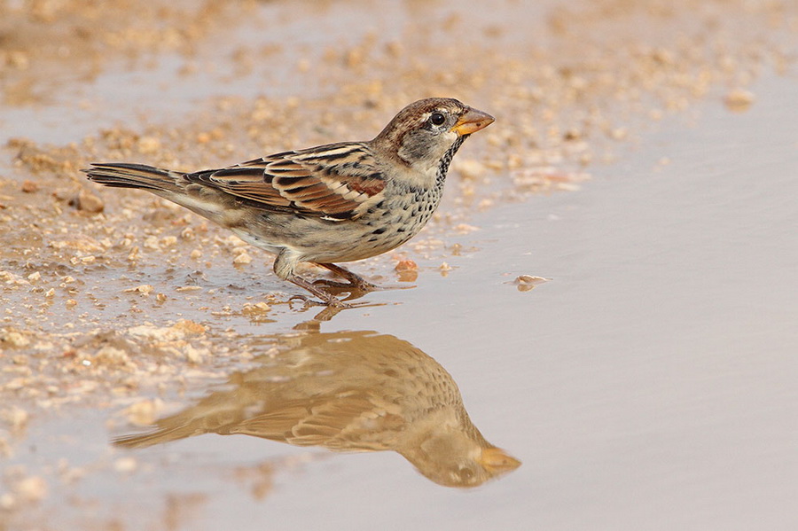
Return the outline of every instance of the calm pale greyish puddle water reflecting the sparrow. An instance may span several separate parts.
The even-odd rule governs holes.
[[[499,42],[517,43],[520,26]],[[370,293],[367,301],[384,304],[342,311],[329,321],[312,320],[317,308],[279,304],[262,319],[209,313],[203,305],[238,308],[248,293],[290,289],[261,269],[220,266],[221,259],[199,274],[183,262],[152,259],[143,259],[148,269],[125,269],[118,257],[97,269],[69,269],[70,275],[84,273],[79,282],[106,301],[102,311],[79,301],[79,311],[93,312],[88,323],[66,313],[78,329],[176,317],[207,326],[218,359],[180,375],[177,391],[136,384],[142,398],[166,402],[159,418],[191,411],[203,399],[207,405],[214,393],[224,400],[212,404],[216,417],[207,408],[194,411],[193,420],[206,424],[192,433],[121,449],[113,439],[147,430],[131,426],[123,412],[137,398],[129,390],[98,393],[82,407],[75,389],[73,402],[38,412],[24,433],[15,434],[4,480],[11,483],[14,469],[24,466],[27,474],[47,478],[49,491],[36,504],[6,513],[0,529],[793,528],[795,86],[794,73],[764,74],[751,87],[755,103],[744,113],[710,98],[690,114],[641,128],[636,143],[623,145],[613,163],[591,164],[592,178],[578,191],[475,210],[467,223],[480,230],[445,237],[447,246],[466,250],[446,255],[453,268],[447,275],[434,267],[437,258],[419,259],[416,287]],[[52,140],[37,129],[43,125],[32,125],[28,134]],[[388,276],[385,267],[374,267]],[[513,283],[519,275],[549,280],[521,292]],[[145,282],[166,285],[165,291],[195,282],[203,291],[183,298],[169,291],[166,303],[130,302],[134,295],[119,294],[121,287]],[[317,328],[325,335],[315,334]],[[391,363],[373,371],[361,363],[344,379],[336,371],[354,365],[341,369],[319,359],[325,342],[331,357],[344,356],[361,345],[359,338],[378,338],[377,360],[394,349],[431,360],[419,362],[421,374],[411,379],[379,380],[368,391],[370,403],[380,388],[401,387],[398,381],[434,387],[422,370],[434,367],[435,381],[444,384],[431,402],[458,402],[456,384],[473,425],[521,465],[476,488],[445,488],[382,439],[384,448],[370,444],[385,451],[333,453],[321,448],[332,444],[329,439],[299,446],[278,435],[270,441],[200,434],[219,431],[210,426],[219,417],[246,424],[263,403],[289,402],[289,394],[304,401],[292,407],[313,410],[321,402],[311,398],[324,398],[331,387],[349,396],[366,388],[373,374],[395,371]],[[222,347],[245,346],[262,357],[231,361],[221,353]],[[316,379],[302,368],[311,362],[319,363],[313,365]],[[64,367],[66,374],[74,371]],[[252,387],[229,379],[283,387],[278,398],[277,392],[252,398],[246,396]],[[348,390],[335,387],[341,382]],[[424,394],[416,387],[388,390],[404,398],[380,402],[382,417],[373,418],[410,416],[404,404]],[[397,403],[404,409],[392,410]],[[354,402],[349,407],[344,413],[350,417],[364,411]],[[286,407],[282,417],[258,428],[285,427],[289,412]],[[311,432],[340,434],[341,419],[349,418],[344,413],[328,415]],[[374,433],[380,438],[389,431]]]

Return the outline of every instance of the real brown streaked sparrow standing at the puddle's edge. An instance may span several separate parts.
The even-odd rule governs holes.
[[[405,106],[364,142],[278,152],[192,173],[122,162],[95,162],[82,172],[95,183],[151,191],[232,230],[276,254],[279,278],[323,305],[349,308],[320,285],[361,293],[378,286],[335,262],[386,253],[418,234],[441,201],[452,157],[465,138],[493,121],[457,99],[426,98]],[[346,282],[311,283],[297,275],[300,262]]]

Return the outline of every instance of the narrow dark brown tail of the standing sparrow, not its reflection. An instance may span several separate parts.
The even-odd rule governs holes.
[[[91,168],[81,170],[90,181],[117,188],[143,188],[155,193],[176,193],[183,190],[183,173],[169,169],[153,168],[144,164],[122,162],[95,162]]]

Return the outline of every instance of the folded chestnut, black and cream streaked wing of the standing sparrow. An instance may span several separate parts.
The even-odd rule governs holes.
[[[330,219],[356,219],[383,199],[386,177],[367,144],[328,144],[187,174],[256,207]]]

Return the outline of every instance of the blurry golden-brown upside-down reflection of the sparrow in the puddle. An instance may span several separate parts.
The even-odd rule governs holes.
[[[144,448],[201,433],[243,433],[335,451],[394,450],[435,483],[474,487],[520,465],[465,412],[457,384],[410,343],[376,332],[284,337],[277,355],[223,390],[115,444]]]

